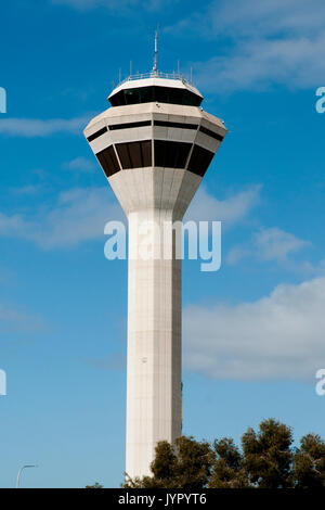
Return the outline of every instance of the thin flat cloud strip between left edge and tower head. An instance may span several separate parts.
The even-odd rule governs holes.
[[[49,137],[58,132],[80,135],[87,126],[89,117],[70,119],[35,119],[35,118],[1,118],[0,133],[9,137]]]

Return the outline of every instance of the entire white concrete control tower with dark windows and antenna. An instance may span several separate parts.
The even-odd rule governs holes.
[[[151,474],[158,441],[181,436],[182,267],[179,233],[166,225],[182,220],[226,129],[156,59],[108,101],[84,136],[129,222],[126,472],[134,477]],[[150,221],[161,231],[160,256],[143,257],[141,226]],[[146,238],[157,247],[156,233]]]

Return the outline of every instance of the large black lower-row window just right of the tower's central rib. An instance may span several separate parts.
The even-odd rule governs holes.
[[[155,166],[185,168],[192,143],[155,140]]]

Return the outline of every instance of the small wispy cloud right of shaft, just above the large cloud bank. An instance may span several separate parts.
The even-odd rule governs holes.
[[[235,246],[230,251],[227,263],[236,264],[242,258],[252,257],[262,262],[276,260],[286,264],[290,255],[310,245],[309,241],[303,241],[280,228],[261,228],[253,233],[249,244]]]

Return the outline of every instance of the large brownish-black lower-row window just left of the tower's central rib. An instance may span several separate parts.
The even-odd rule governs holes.
[[[123,169],[152,166],[152,141],[117,143],[116,150]]]

